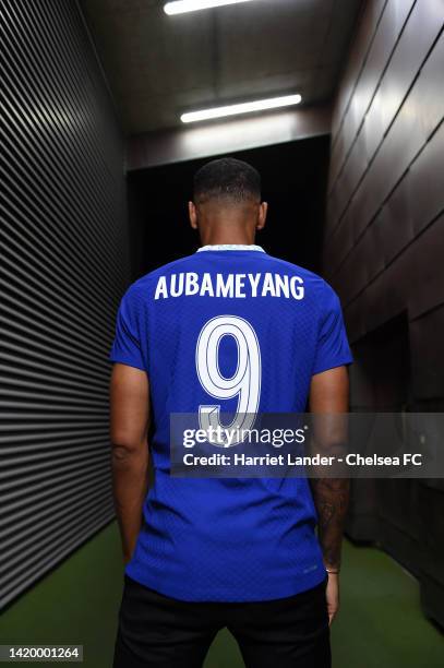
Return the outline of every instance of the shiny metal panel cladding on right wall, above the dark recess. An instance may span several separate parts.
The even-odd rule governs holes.
[[[336,105],[324,257],[352,341],[444,302],[444,5],[365,8]],[[415,330],[418,358],[427,346]],[[425,386],[416,372],[415,384],[418,397],[444,396],[444,374]]]

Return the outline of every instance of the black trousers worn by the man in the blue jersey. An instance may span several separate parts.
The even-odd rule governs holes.
[[[125,575],[113,668],[201,668],[224,628],[247,668],[329,668],[325,587],[262,603],[187,603]]]

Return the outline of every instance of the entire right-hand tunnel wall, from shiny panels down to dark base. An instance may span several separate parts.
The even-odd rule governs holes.
[[[324,273],[359,409],[444,408],[443,21],[440,0],[365,2],[334,110]],[[413,571],[444,624],[442,481],[353,490],[351,535]]]

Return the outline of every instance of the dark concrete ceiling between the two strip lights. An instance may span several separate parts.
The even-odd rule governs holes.
[[[361,0],[255,0],[176,16],[164,4],[82,2],[128,134],[220,103],[329,99]]]

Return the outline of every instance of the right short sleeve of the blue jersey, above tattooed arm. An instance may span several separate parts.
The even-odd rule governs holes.
[[[327,283],[324,283],[322,295],[313,374],[353,361],[339,298]]]

